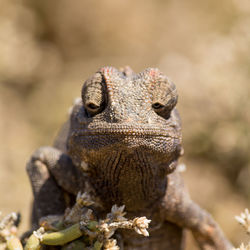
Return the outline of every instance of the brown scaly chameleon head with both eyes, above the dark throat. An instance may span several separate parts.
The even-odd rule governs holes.
[[[82,88],[71,115],[68,150],[73,161],[92,163],[122,151],[144,152],[170,164],[181,153],[175,85],[158,69],[139,74],[104,67]]]

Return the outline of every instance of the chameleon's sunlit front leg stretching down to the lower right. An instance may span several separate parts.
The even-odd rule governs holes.
[[[166,220],[190,229],[200,249],[231,250],[233,248],[212,216],[190,199],[178,173],[168,176],[163,205]]]

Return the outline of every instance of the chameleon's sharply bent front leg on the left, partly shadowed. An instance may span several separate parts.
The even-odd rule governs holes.
[[[33,223],[49,214],[63,214],[65,192],[81,190],[81,174],[71,159],[53,147],[41,147],[27,163],[27,172],[34,194]]]

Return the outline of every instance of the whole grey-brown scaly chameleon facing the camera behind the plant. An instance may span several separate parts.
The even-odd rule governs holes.
[[[184,249],[184,229],[201,249],[231,249],[174,172],[183,152],[176,103],[175,85],[158,69],[96,72],[83,85],[56,146],[40,148],[28,163],[33,222],[62,213],[65,192],[75,196],[88,183],[103,205],[97,213],[124,204],[128,216],[152,219],[150,237],[120,232],[124,249]]]

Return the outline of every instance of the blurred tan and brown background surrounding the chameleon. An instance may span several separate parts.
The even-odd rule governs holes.
[[[250,208],[249,27],[249,0],[0,0],[0,210],[28,228],[25,164],[53,143],[86,78],[158,67],[179,92],[191,196],[245,241],[234,216]]]

